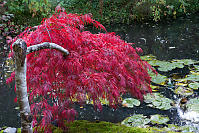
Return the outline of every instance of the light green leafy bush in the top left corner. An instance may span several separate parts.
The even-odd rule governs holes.
[[[6,0],[9,13],[14,14],[16,24],[35,25],[43,17],[52,13],[52,6],[48,0]],[[53,9],[54,10],[54,9]]]

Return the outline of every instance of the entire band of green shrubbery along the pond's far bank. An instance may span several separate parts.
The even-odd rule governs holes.
[[[40,22],[59,4],[69,13],[92,13],[102,24],[160,21],[199,11],[199,0],[7,0],[16,18]],[[101,4],[100,4],[101,2]],[[28,20],[27,19],[27,20]],[[17,21],[20,23],[20,21]],[[22,23],[23,23],[22,22]],[[28,22],[29,23],[29,22]],[[29,23],[30,24],[30,23]]]

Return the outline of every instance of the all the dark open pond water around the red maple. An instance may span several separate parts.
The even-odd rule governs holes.
[[[135,23],[132,26],[115,25],[108,31],[116,32],[127,42],[134,42],[134,47],[141,47],[144,55],[153,54],[159,60],[199,59],[198,14],[160,24]],[[17,104],[14,103],[14,84],[8,86],[5,83],[5,75],[9,73],[5,65],[8,48],[3,40],[1,40],[0,48],[0,127],[19,127],[19,112],[15,109]],[[164,93],[171,95],[170,92]],[[158,111],[157,109],[146,107],[144,104],[134,109],[119,107],[116,110],[104,106],[101,113],[95,112],[91,105],[86,105],[83,109],[76,105],[75,108],[79,112],[78,119],[121,122],[135,113],[144,115],[158,113],[167,114],[172,123],[179,123],[180,121],[176,109]]]

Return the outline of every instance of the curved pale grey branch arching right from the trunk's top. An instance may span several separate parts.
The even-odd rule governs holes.
[[[63,47],[55,44],[55,43],[49,43],[49,42],[44,42],[41,44],[33,45],[27,48],[26,54],[39,51],[41,49],[56,49],[60,52],[62,52],[64,55],[69,55],[68,50],[64,49]]]

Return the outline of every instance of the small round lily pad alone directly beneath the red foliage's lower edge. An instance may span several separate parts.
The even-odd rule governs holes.
[[[122,105],[133,108],[134,106],[140,106],[140,101],[134,98],[126,98],[122,101]]]

